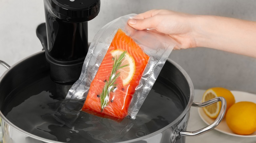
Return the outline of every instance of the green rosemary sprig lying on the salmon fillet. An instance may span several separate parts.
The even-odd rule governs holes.
[[[126,52],[127,51],[124,51],[118,58],[117,56],[114,58],[114,64],[113,64],[111,74],[109,76],[109,80],[105,82],[103,90],[100,94],[101,112],[104,110],[104,107],[106,107],[109,104],[109,93],[111,91],[114,91],[117,86],[115,82],[117,80],[117,77],[120,75],[120,72],[116,73],[117,70],[128,66],[128,65],[120,66],[123,58],[125,57]]]

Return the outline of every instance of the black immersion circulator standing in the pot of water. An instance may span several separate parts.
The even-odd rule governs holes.
[[[88,52],[88,24],[100,9],[100,0],[44,0],[51,79],[74,83]]]

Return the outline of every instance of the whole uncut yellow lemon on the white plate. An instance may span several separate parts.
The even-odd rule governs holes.
[[[233,104],[227,111],[226,123],[236,134],[252,134],[256,131],[256,104],[252,102]]]

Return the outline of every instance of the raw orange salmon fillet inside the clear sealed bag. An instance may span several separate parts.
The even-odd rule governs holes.
[[[111,54],[113,50],[122,50],[129,54],[135,62],[135,72],[128,84],[123,85],[120,76],[115,80],[112,91],[109,92],[109,99],[106,106],[102,108],[100,96],[106,82],[110,79],[114,65],[114,58]],[[104,59],[102,60],[94,80],[90,85],[88,95],[82,107],[82,111],[102,118],[122,120],[128,115],[128,108],[132,100],[136,87],[148,63],[149,56],[137,45],[131,37],[127,36],[121,29],[111,42]],[[129,65],[126,65],[129,66]],[[118,72],[118,70],[117,70]],[[117,73],[116,73],[117,74]]]

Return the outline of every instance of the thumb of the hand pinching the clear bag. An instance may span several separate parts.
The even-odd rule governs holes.
[[[147,28],[156,28],[156,22],[154,22],[153,17],[146,19],[129,19],[128,24],[138,30],[144,30]]]

